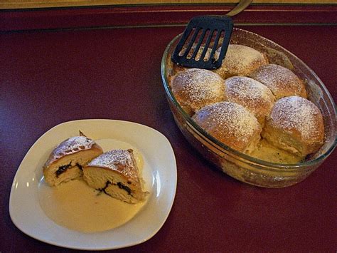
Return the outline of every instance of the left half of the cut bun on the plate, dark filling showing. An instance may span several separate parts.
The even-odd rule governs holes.
[[[43,165],[43,175],[50,186],[82,177],[82,167],[103,153],[94,140],[80,134],[60,143]]]

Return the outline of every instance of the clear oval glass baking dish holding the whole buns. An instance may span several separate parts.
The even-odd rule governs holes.
[[[325,142],[318,152],[310,155],[304,162],[281,164],[240,153],[206,133],[181,108],[170,88],[171,77],[176,71],[179,71],[179,67],[174,66],[174,63],[171,62],[171,53],[176,48],[180,36],[173,38],[166,47],[161,61],[161,78],[178,128],[205,159],[242,182],[260,187],[287,187],[308,177],[332,153],[336,146],[336,107],[322,81],[314,71],[287,49],[256,33],[242,29],[234,29],[231,43],[250,46],[265,53],[270,63],[291,69],[306,83],[309,100],[319,107],[323,115]]]

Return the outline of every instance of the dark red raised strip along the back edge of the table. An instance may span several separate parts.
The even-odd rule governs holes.
[[[198,15],[223,15],[231,5],[100,6],[0,11],[0,31],[107,27],[185,26]],[[253,5],[233,17],[238,24],[337,24],[337,5]]]

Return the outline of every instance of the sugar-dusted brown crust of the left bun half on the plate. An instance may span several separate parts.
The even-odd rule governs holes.
[[[90,150],[91,148],[102,150],[100,145],[97,145],[94,140],[87,138],[85,135],[71,137],[56,146],[53,152],[50,153],[49,158],[43,167],[48,167],[56,160],[63,158],[65,155],[72,155],[83,150]]]

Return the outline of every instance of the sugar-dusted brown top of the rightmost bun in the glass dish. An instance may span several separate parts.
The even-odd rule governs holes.
[[[277,100],[267,122],[274,128],[299,135],[304,143],[323,143],[323,116],[306,98],[290,96]]]

